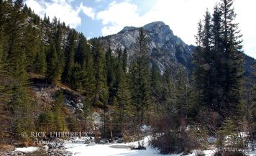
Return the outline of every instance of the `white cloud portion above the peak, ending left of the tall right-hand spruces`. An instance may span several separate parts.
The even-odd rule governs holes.
[[[194,7],[195,4],[200,4],[200,6]],[[157,0],[153,5],[149,12],[140,15],[140,9],[131,1],[112,2],[108,8],[96,16],[97,19],[102,20],[104,25],[101,29],[102,35],[119,32],[124,26],[140,27],[150,22],[163,21],[170,25],[175,35],[187,43],[194,43],[193,36],[196,35],[196,23],[204,16],[207,6],[214,6],[214,1]]]

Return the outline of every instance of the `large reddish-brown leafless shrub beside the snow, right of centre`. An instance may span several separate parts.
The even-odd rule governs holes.
[[[172,124],[170,124],[172,123]],[[198,127],[187,127],[184,121],[175,116],[163,116],[154,125],[155,134],[150,144],[160,150],[161,154],[185,152],[206,146],[206,133]]]

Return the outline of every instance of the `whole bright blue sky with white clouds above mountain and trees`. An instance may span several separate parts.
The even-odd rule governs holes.
[[[155,21],[170,26],[188,45],[195,44],[197,23],[219,0],[25,0],[36,14],[70,25],[89,39],[116,34],[125,26],[142,27]],[[236,22],[243,50],[256,58],[256,1],[235,0]]]

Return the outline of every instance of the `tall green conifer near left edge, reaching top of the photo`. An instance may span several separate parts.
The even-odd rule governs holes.
[[[8,84],[10,100],[6,110],[13,117],[13,122],[9,126],[16,133],[27,132],[29,124],[31,124],[31,118],[29,118],[31,99],[27,88],[27,58],[22,48],[24,46],[22,41],[22,32],[24,31],[22,6],[23,1],[14,2],[9,22],[6,23],[9,28],[5,29],[5,32],[9,33],[6,42],[6,47],[8,47],[6,49],[6,72],[12,77],[12,81]]]

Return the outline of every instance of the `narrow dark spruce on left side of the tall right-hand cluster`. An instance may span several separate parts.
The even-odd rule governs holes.
[[[198,25],[198,35],[197,35],[198,45],[196,49],[195,63],[196,67],[196,82],[197,87],[200,90],[201,96],[200,102],[201,106],[208,109],[213,109],[214,107],[214,60],[213,51],[211,48],[211,15],[206,12],[204,17],[204,26],[199,23]]]

